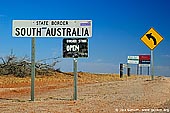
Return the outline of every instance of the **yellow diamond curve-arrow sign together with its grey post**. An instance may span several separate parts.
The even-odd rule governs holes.
[[[153,50],[164,38],[154,29],[150,28],[142,37],[141,41],[151,50],[151,76],[154,79],[154,57]]]

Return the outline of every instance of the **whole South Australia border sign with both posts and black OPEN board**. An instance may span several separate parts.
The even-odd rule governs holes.
[[[92,37],[92,20],[13,20],[12,24],[13,37],[32,38],[31,101],[34,101],[35,37],[74,38],[74,40],[64,39],[63,57],[74,58],[74,100],[77,100],[76,58],[88,57],[88,39],[86,38]]]

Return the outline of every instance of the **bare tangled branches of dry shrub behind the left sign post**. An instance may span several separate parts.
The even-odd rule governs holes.
[[[47,58],[39,60],[35,63],[36,74],[38,75],[50,75],[52,72],[60,71],[55,69],[55,65],[59,62],[58,58]],[[43,63],[43,61],[51,60],[51,64]],[[0,57],[0,75],[14,75],[17,77],[25,77],[31,75],[31,61],[27,56],[22,58],[16,57],[16,55],[11,52],[10,55],[6,57]]]

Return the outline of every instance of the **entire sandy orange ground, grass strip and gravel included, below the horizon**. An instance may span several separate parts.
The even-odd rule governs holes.
[[[149,76],[119,78],[115,74],[79,73],[78,100],[73,100],[73,76],[37,76],[35,101],[30,78],[0,76],[1,113],[167,113],[170,79]]]

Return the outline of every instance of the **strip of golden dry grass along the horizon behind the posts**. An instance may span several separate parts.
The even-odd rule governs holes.
[[[120,78],[118,74],[93,74],[93,73],[78,73],[78,81],[80,83],[96,83],[96,82],[110,82],[110,81],[123,81],[137,78],[150,78],[149,76],[136,76],[132,75],[127,77],[124,75],[123,78]],[[73,81],[73,73],[54,73],[51,76],[41,76],[37,75],[35,78],[35,82],[72,82]],[[0,87],[5,87],[5,85],[14,87],[19,84],[30,84],[31,77],[19,78],[12,75],[8,76],[0,76]]]

